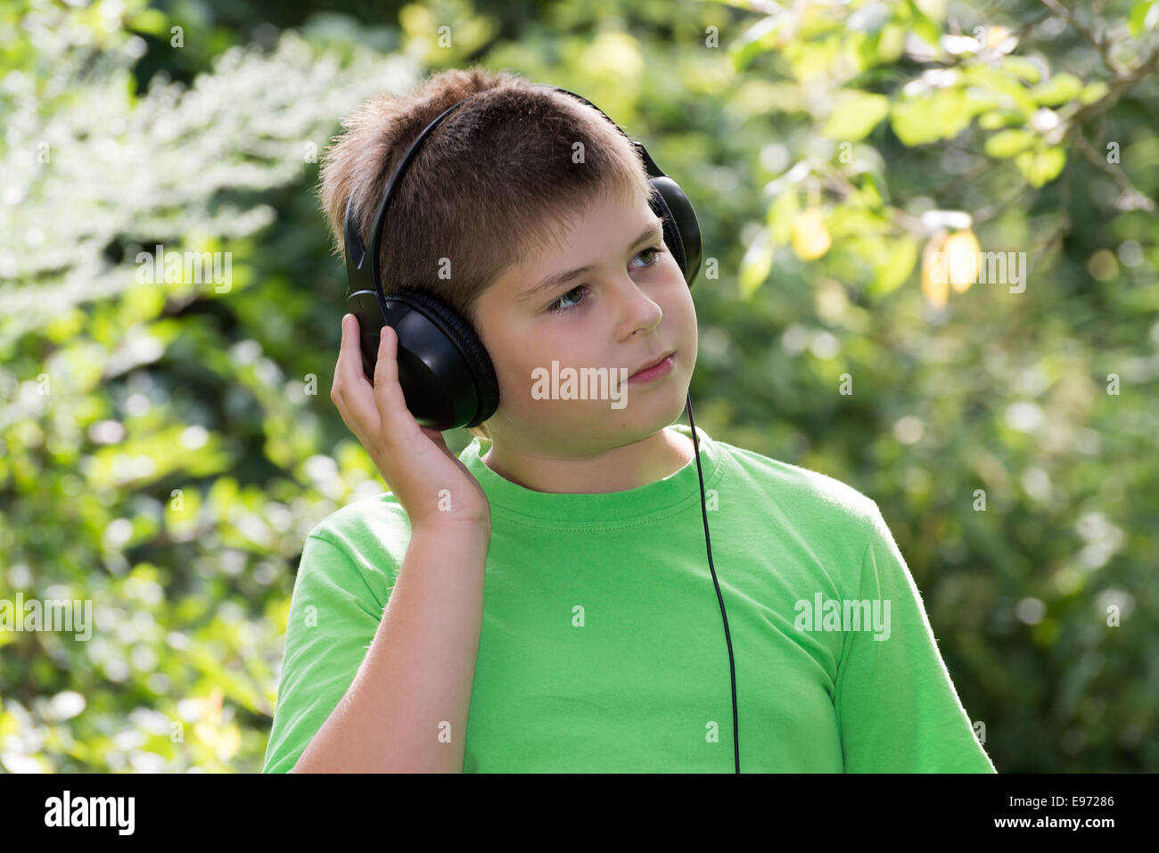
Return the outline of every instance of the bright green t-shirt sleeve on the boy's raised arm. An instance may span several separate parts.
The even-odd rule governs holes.
[[[337,707],[381,621],[386,602],[378,598],[344,548],[314,533],[306,538],[263,773],[292,770]]]

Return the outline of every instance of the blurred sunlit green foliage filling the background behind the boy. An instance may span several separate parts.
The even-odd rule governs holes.
[[[1159,3],[231,9],[0,10],[0,599],[96,624],[0,632],[0,767],[260,768],[306,532],[384,488],[316,162],[482,60],[688,192],[698,424],[877,501],[999,771],[1159,768]],[[1025,287],[939,290],[971,240]]]

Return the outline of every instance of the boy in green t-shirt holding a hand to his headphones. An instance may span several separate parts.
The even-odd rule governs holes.
[[[394,330],[371,386],[343,318],[331,399],[392,491],[307,537],[264,771],[732,772],[694,445],[673,424],[697,318],[628,140],[515,75],[443,72],[345,123],[322,170],[335,238],[351,194],[367,233],[401,152],[474,93],[396,189],[381,269],[471,322],[500,406],[455,458],[406,409]],[[630,377],[626,404],[542,399],[553,362]],[[876,504],[697,437],[741,766],[994,772]]]

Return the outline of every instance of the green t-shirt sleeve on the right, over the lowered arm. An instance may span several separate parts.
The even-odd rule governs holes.
[[[845,633],[833,697],[845,772],[997,772],[974,734],[917,584],[876,503],[859,584],[858,599],[879,599],[879,612],[888,618],[883,630]]]

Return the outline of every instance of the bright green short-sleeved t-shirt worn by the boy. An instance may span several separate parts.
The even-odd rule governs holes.
[[[697,436],[742,772],[993,773],[877,504]],[[459,457],[491,508],[462,770],[734,772],[695,460],[636,489],[555,494],[483,465],[489,444]],[[263,772],[293,767],[350,686],[409,538],[391,494],[311,531]]]

